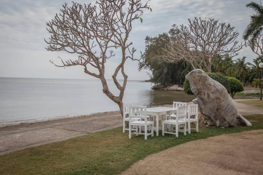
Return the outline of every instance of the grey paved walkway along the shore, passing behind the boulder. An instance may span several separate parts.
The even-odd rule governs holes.
[[[263,114],[263,109],[237,103],[242,115]],[[252,111],[252,112],[251,112]],[[122,125],[120,112],[59,119],[0,128],[0,155],[31,146],[61,141]]]

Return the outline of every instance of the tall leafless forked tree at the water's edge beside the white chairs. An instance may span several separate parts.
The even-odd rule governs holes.
[[[124,63],[127,59],[140,60],[134,58],[136,49],[131,48],[133,43],[128,43],[127,40],[133,20],[140,19],[142,22],[140,17],[143,9],[151,10],[147,5],[149,1],[143,5],[141,0],[129,0],[128,4],[125,0],[99,0],[96,2],[97,6],[73,2],[71,7],[65,3],[60,14],[56,14],[47,23],[51,37],[49,41],[45,40],[49,44],[46,49],[77,54],[78,59],[63,61],[59,57],[62,65],[50,62],[58,67],[83,66],[85,73],[100,79],[103,93],[118,104],[122,113],[122,99],[128,78],[124,72]],[[105,63],[115,56],[112,49],[121,50],[120,63],[112,75],[113,82],[119,89],[119,96],[109,91],[105,79]],[[96,71],[92,72],[90,68],[95,68]],[[121,72],[124,79],[122,85],[116,78],[118,72]]]

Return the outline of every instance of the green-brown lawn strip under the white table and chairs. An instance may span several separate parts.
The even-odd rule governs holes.
[[[122,128],[105,130],[65,141],[31,147],[0,156],[0,174],[116,174],[152,153],[210,136],[263,129],[263,115],[247,115],[251,127],[201,128],[179,134],[128,139]]]

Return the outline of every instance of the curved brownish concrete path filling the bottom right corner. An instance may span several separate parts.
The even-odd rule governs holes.
[[[263,130],[190,141],[135,162],[122,174],[263,174]]]

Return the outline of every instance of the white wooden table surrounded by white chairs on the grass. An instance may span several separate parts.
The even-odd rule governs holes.
[[[162,128],[161,125],[159,125],[159,116],[161,115],[169,115],[172,113],[176,113],[175,108],[170,107],[153,107],[153,108],[147,108],[146,109],[147,115],[154,115],[156,116],[156,128],[154,127],[154,130],[156,131],[156,136],[159,135],[159,127]]]

